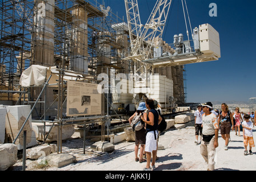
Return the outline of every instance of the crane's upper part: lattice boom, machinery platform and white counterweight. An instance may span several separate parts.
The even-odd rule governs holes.
[[[187,28],[183,1],[186,6],[186,0],[182,0],[182,6]],[[183,40],[182,34],[174,35],[173,44],[161,45],[158,40],[165,28],[171,0],[158,0],[145,25],[141,24],[137,0],[125,0],[125,5],[131,39],[130,56],[126,59],[141,61],[157,68],[218,60],[221,57],[219,34],[210,24],[195,27],[193,32],[191,29],[194,46],[191,46],[191,40]],[[187,35],[189,37],[188,30]],[[170,51],[164,52],[163,49],[168,46],[171,46]]]

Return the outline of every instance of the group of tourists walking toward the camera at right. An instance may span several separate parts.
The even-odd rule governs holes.
[[[195,111],[195,143],[200,144],[200,151],[203,158],[208,163],[208,170],[214,170],[215,148],[218,147],[218,132],[221,130],[221,137],[225,140],[225,150],[228,150],[230,142],[230,131],[235,130],[235,135],[240,135],[242,126],[243,144],[245,146],[244,155],[253,154],[252,147],[255,147],[253,140],[253,127],[255,125],[254,112],[243,114],[239,107],[234,112],[229,110],[225,103],[221,105],[221,111],[213,110],[213,104],[206,102],[198,106]],[[200,142],[198,137],[201,136]],[[247,146],[249,145],[249,152]]]

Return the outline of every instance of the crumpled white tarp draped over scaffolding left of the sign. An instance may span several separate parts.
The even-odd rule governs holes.
[[[39,86],[45,83],[47,67],[31,65],[22,72],[19,84],[21,86]]]

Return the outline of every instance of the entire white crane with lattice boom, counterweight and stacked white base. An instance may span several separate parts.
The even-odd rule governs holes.
[[[210,24],[202,24],[192,31],[186,0],[181,1],[188,40],[184,40],[183,34],[178,34],[174,35],[173,44],[167,44],[162,40],[162,35],[171,0],[158,0],[146,24],[141,23],[137,0],[125,0],[130,35],[130,52],[125,59],[134,62],[134,98],[136,94],[146,95],[157,99],[158,102],[165,103],[165,105],[167,102],[171,103],[169,105],[174,105],[173,90],[177,89],[177,77],[180,76],[176,76],[175,79],[169,76],[169,79],[166,80],[164,76],[154,75],[154,69],[213,61],[221,57],[218,32]],[[189,39],[186,13],[192,40]],[[176,69],[182,68],[177,67]],[[156,90],[156,88],[159,89]],[[177,92],[183,93],[182,90],[177,90]],[[138,102],[140,100],[142,97],[137,99]]]

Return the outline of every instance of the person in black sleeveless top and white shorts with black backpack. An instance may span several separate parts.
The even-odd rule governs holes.
[[[151,99],[146,100],[146,107],[149,109],[149,113],[143,115],[141,117],[142,121],[146,123],[146,158],[147,164],[146,167],[143,169],[144,171],[151,171],[151,167],[155,169],[155,159],[157,157],[157,138],[158,138],[158,125],[162,121],[161,116],[158,114],[158,111],[155,110],[154,101]],[[151,152],[152,152],[152,163],[150,167],[151,161]]]

